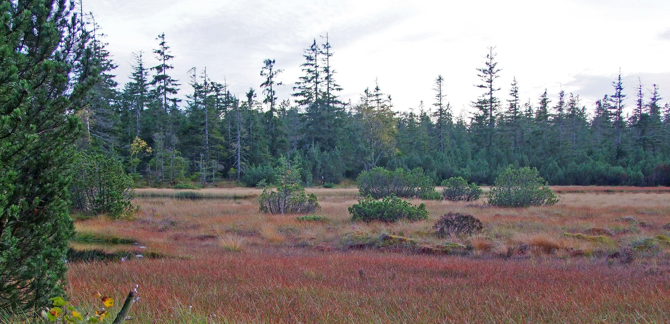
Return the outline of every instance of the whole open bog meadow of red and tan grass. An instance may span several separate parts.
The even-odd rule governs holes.
[[[415,200],[430,220],[395,224],[350,222],[355,188],[308,189],[317,222],[259,213],[257,189],[138,189],[135,219],[78,220],[92,241],[73,247],[161,258],[71,262],[68,290],[139,285],[132,323],[670,323],[668,188],[552,189],[548,207]],[[484,232],[436,237],[450,211]]]

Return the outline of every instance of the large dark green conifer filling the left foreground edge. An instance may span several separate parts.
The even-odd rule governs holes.
[[[66,1],[0,3],[0,309],[63,295],[75,115],[98,79]]]

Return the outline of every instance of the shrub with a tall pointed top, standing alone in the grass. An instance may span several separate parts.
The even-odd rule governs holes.
[[[285,158],[280,159],[281,165],[277,167],[280,178],[277,183],[277,191],[265,187],[259,197],[259,210],[271,214],[295,214],[310,213],[320,209],[314,193],[307,195],[305,188],[300,185],[301,175],[299,169],[289,167]]]

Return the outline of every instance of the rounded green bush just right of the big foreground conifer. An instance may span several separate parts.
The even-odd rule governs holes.
[[[133,179],[120,161],[79,153],[73,166],[70,192],[74,210],[86,216],[106,214],[114,219],[135,213],[138,206],[131,204],[135,197]]]

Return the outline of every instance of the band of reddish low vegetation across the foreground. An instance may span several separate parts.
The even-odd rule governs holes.
[[[235,323],[670,321],[667,266],[374,252],[216,254],[75,264],[70,285],[79,298],[96,289],[121,296],[138,284],[143,299],[133,313],[147,323],[180,317],[176,309],[189,305],[200,317]]]

